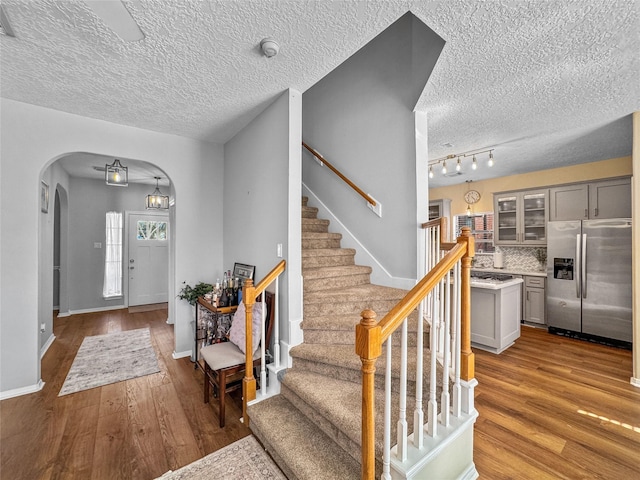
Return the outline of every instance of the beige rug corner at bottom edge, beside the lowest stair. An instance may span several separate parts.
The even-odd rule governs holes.
[[[287,480],[253,435],[159,477],[161,480],[208,480],[211,478]]]

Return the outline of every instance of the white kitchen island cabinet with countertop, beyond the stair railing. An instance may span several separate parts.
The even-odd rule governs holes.
[[[477,275],[471,276],[471,345],[501,353],[520,337],[522,279]]]

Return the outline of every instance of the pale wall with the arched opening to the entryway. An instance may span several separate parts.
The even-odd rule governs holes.
[[[191,309],[176,302],[175,292],[183,281],[210,278],[222,268],[222,232],[209,221],[210,212],[222,204],[222,146],[6,99],[0,103],[0,134],[0,395],[38,388],[40,302],[49,315],[52,305],[51,293],[42,296],[41,275],[50,278],[51,272],[48,265],[46,271],[39,268],[39,249],[53,248],[39,245],[40,179],[50,163],[72,152],[147,161],[171,179],[176,206],[170,270],[175,281],[169,312],[175,321],[176,353],[188,355]],[[53,215],[52,208],[47,215]],[[53,223],[45,223],[52,230]],[[48,238],[52,235],[43,235],[42,242]]]

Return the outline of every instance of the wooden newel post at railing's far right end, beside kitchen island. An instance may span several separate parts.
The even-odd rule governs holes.
[[[470,381],[475,377],[475,360],[471,351],[471,260],[475,256],[475,239],[469,227],[462,227],[458,243],[467,244],[467,253],[462,257],[461,277],[461,315],[460,315],[460,378]]]

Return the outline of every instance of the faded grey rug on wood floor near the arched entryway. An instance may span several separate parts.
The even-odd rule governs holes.
[[[159,371],[148,328],[85,337],[58,396]]]

